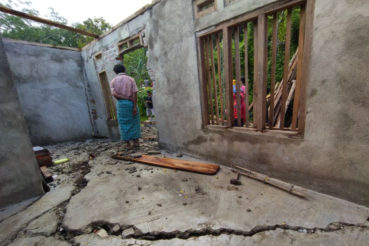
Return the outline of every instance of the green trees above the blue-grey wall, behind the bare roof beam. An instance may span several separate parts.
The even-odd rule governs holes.
[[[30,1],[18,1],[18,4],[25,4],[27,6],[27,8],[23,8],[21,10],[22,12],[39,16],[39,11],[31,8],[32,3]],[[8,0],[5,7],[12,8],[13,6],[18,6],[18,4]],[[0,5],[3,6],[3,4]],[[54,8],[48,8],[48,10],[46,18],[64,25],[68,24],[68,21],[64,17],[60,16]],[[86,21],[83,21],[83,24],[79,22],[73,23],[72,27],[100,35],[111,28],[111,24],[106,22],[102,17],[94,17],[93,20],[88,18]],[[94,39],[82,34],[77,34],[65,29],[52,27],[3,12],[0,12],[0,34],[5,38],[78,48],[82,48]]]

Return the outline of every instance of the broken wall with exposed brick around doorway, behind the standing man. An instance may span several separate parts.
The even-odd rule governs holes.
[[[114,79],[116,76],[113,72],[114,65],[124,63],[124,60],[118,57],[117,43],[137,34],[139,31],[142,31],[142,35],[145,35],[145,25],[151,16],[150,8],[154,4],[151,4],[150,7],[145,6],[145,11],[138,11],[138,13],[134,14],[134,17],[128,17],[126,20],[120,22],[120,24],[117,24],[113,30],[107,31],[99,39],[92,41],[82,48],[81,56],[85,68],[85,80],[90,85],[91,97],[96,104],[94,122],[100,136],[107,136],[113,139],[120,138],[118,121],[109,119],[107,114],[99,73],[106,72],[109,83]],[[102,53],[102,59],[96,60],[94,55],[100,51]],[[152,76],[152,79],[155,80],[155,77]],[[115,98],[113,100],[115,101]]]

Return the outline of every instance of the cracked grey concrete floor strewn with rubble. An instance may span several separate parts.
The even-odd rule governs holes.
[[[137,152],[157,148],[155,141],[141,143]],[[117,141],[81,143],[63,144],[63,153],[58,145],[50,148],[61,157],[80,152],[81,161],[89,148],[108,144],[88,162],[87,186],[76,191],[78,177],[63,173],[51,192],[0,223],[0,245],[369,245],[369,208],[314,191],[300,198],[246,177],[234,186],[225,166],[207,176],[113,160],[111,152],[122,148]],[[122,239],[128,228],[135,235]],[[108,236],[94,233],[99,229]]]

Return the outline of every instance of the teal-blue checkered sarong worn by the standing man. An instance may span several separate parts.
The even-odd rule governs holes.
[[[117,100],[117,117],[119,123],[120,138],[124,141],[139,139],[141,137],[141,127],[139,111],[133,115],[133,102],[130,100]]]

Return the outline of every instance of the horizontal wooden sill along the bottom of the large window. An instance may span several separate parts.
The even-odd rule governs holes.
[[[251,134],[251,135],[269,136],[269,137],[276,137],[276,138],[289,138],[289,139],[298,139],[298,140],[304,139],[303,134],[298,134],[297,132],[292,132],[292,131],[269,130],[269,129],[258,131],[256,130],[256,128],[246,128],[246,127],[227,128],[224,125],[206,125],[204,128],[209,129],[209,130],[234,132],[234,133],[239,133],[239,134]]]

